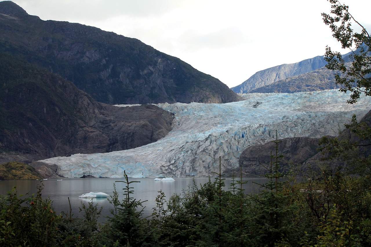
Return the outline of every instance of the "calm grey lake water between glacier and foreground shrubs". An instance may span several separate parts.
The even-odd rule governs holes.
[[[154,178],[130,178],[129,181],[140,181],[139,183],[132,183],[131,187],[134,187],[133,197],[137,200],[148,200],[144,202],[145,209],[143,211],[144,217],[150,216],[153,212],[152,208],[155,207],[155,198],[158,195],[159,190],[162,190],[166,198],[168,199],[171,195],[181,194],[183,190],[188,189],[188,185],[193,184],[193,178],[174,178],[175,181],[154,181]],[[209,178],[194,178],[196,184],[204,184]],[[79,195],[89,192],[104,192],[112,195],[113,184],[115,181],[123,181],[118,178],[63,178],[62,181],[56,179],[43,180],[45,188],[42,192],[43,197],[50,197],[53,200],[53,207],[57,213],[61,211],[68,211],[68,197],[70,199],[72,213],[74,216],[82,216],[79,213],[79,207],[81,203],[86,203],[91,200],[88,198],[79,198]],[[214,178],[212,178],[214,181]],[[265,178],[244,178],[243,181],[248,181],[243,185],[247,194],[254,193],[259,190],[259,185],[254,184],[257,182],[262,184],[267,180]],[[224,189],[228,190],[229,184],[232,182],[232,178],[226,178],[225,184],[227,185]],[[36,180],[9,180],[0,181],[0,194],[6,195],[7,191],[11,190],[12,187],[16,186],[18,195],[26,193],[35,193],[36,186],[40,184],[40,181]],[[120,195],[120,200],[124,198],[123,190],[125,184],[122,182],[116,182],[116,189]],[[103,207],[102,215],[99,217],[99,221],[105,221],[105,216],[109,216],[109,210],[112,205],[109,204],[107,198],[93,198],[99,207]]]

